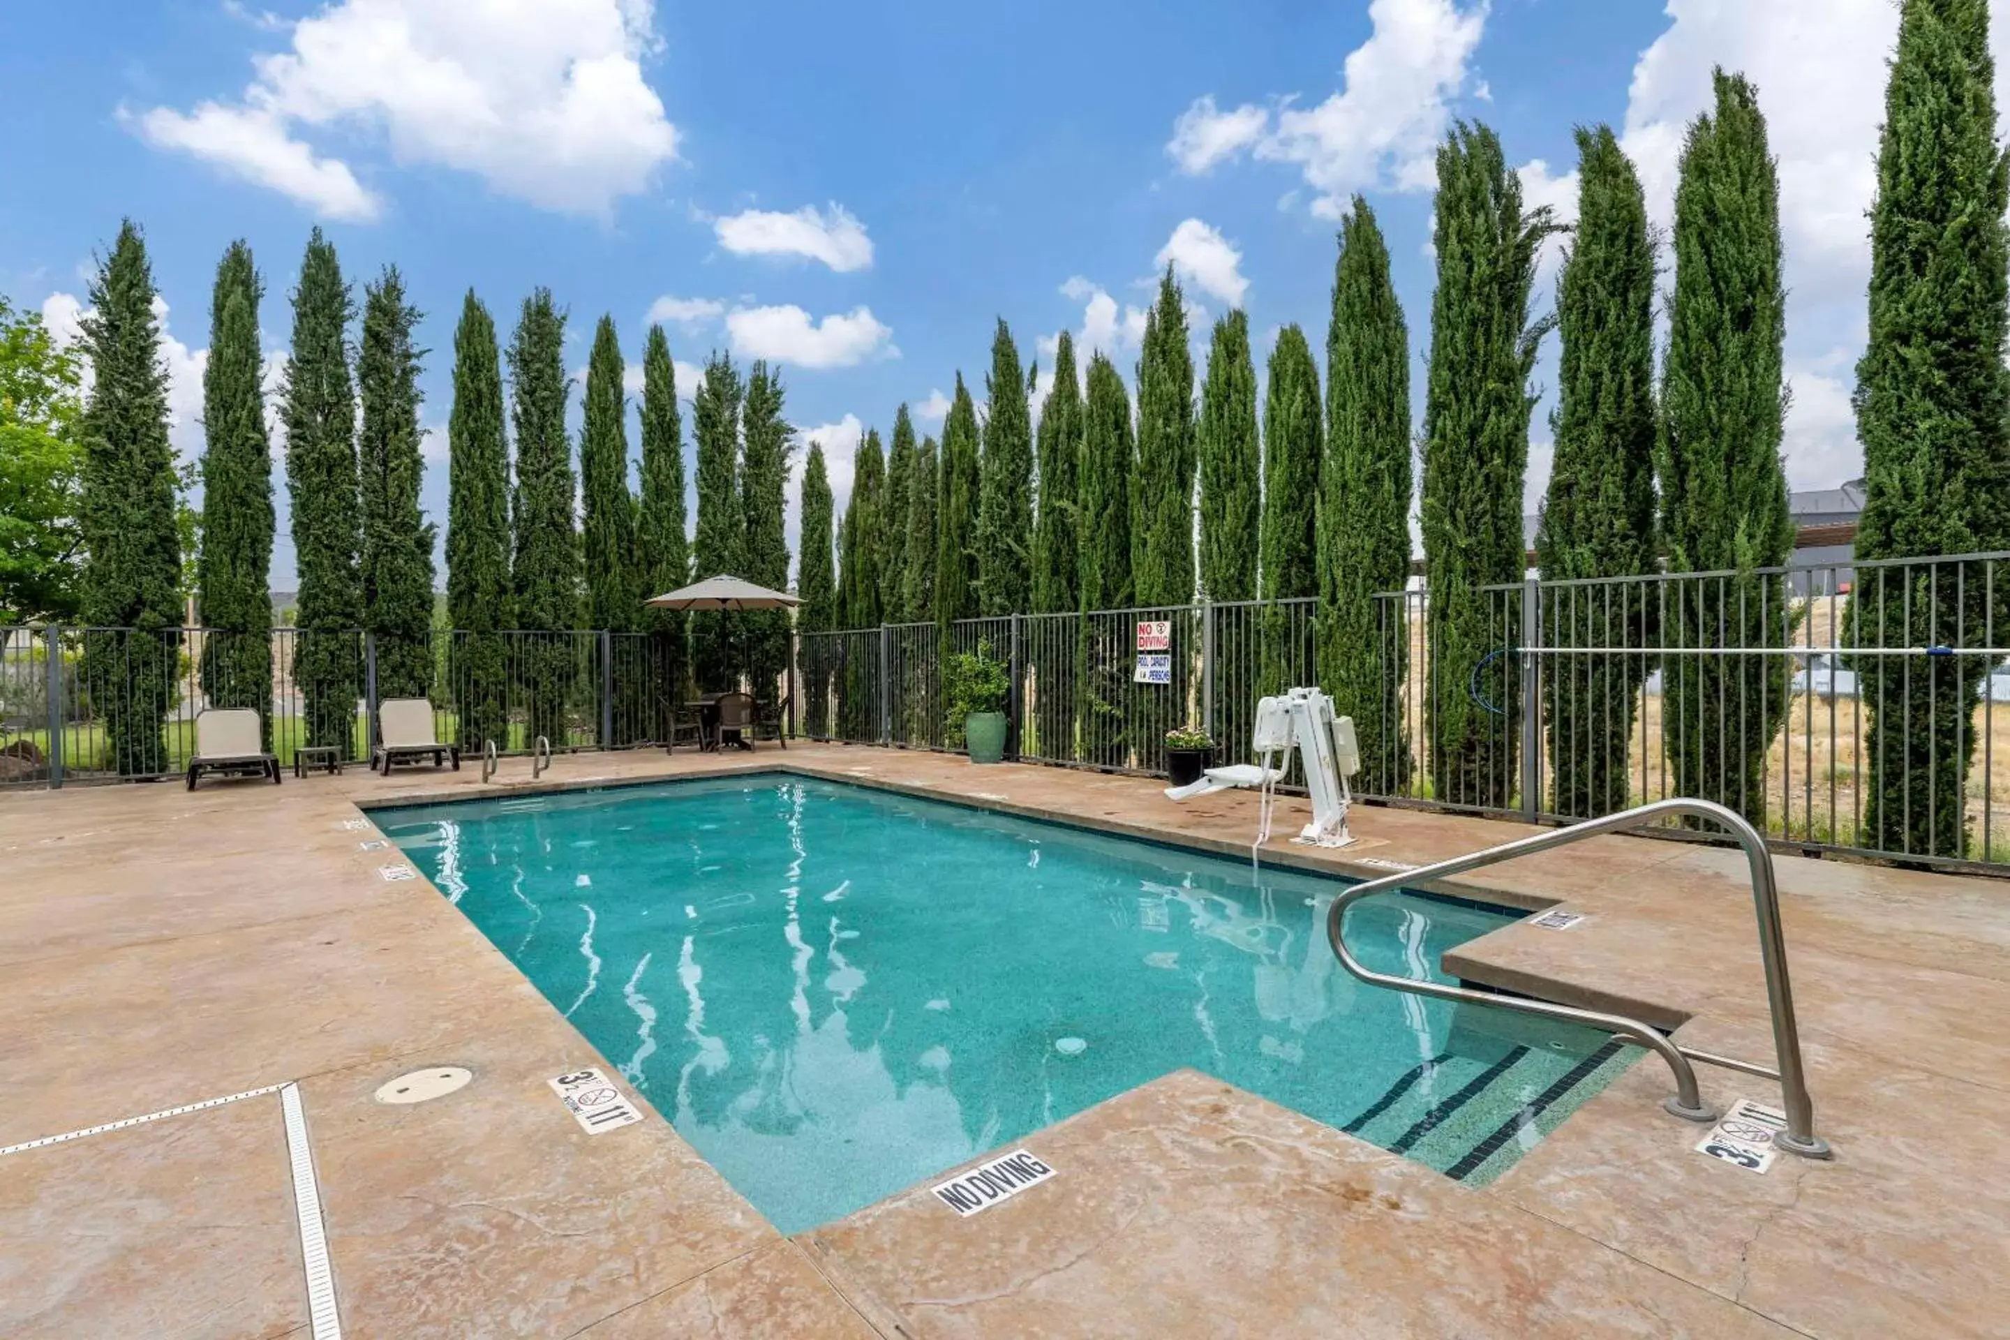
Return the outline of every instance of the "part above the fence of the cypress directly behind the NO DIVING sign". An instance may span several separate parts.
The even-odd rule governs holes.
[[[1138,466],[1132,480],[1132,567],[1140,605],[1194,599],[1194,358],[1172,265],[1144,327],[1138,362]],[[1174,649],[1174,663],[1180,663]]]

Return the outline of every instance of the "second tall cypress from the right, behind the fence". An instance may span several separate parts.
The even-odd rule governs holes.
[[[1662,370],[1658,470],[1674,583],[1670,647],[1785,647],[1775,567],[1793,552],[1779,444],[1785,420],[1779,179],[1759,96],[1717,70],[1715,110],[1682,147],[1674,301]],[[1680,796],[1765,820],[1765,755],[1787,711],[1785,657],[1664,657],[1662,739]]]

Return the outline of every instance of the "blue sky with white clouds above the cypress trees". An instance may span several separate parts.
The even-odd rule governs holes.
[[[1323,348],[1333,205],[1353,191],[1391,237],[1421,360],[1429,155],[1451,119],[1495,127],[1530,197],[1566,217],[1572,127],[1610,121],[1666,221],[1682,125],[1723,62],[1771,117],[1787,468],[1819,486],[1859,462],[1861,213],[1893,32],[1887,0],[16,4],[0,78],[36,121],[0,147],[0,293],[66,327],[94,249],[139,219],[175,440],[199,452],[217,257],[251,241],[277,366],[322,223],[358,291],[396,263],[426,311],[428,426],[446,422],[460,295],[507,329],[549,285],[575,368],[603,311],[639,358],[651,309],[683,364],[712,348],[780,362],[842,504],[860,426],[886,432],[907,400],[935,430],[923,408],[959,368],[985,396],[997,315],[1027,358],[1047,362],[1065,327],[1130,372],[1132,309],[1164,259],[1202,319],[1248,307],[1258,356],[1286,321]],[[1538,382],[1550,364],[1554,348]],[[424,502],[442,522],[444,498],[440,432]],[[275,587],[291,583],[283,530]]]

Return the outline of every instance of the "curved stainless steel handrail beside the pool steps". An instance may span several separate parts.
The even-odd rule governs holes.
[[[1759,954],[1765,960],[1765,986],[1767,1000],[1773,1011],[1773,1047],[1779,1055],[1779,1069],[1767,1069],[1749,1061],[1676,1047],[1652,1025],[1638,1019],[1626,1019],[1622,1015],[1580,1011],[1552,1000],[1528,1000],[1522,996],[1473,990],[1469,986],[1447,986],[1443,982],[1425,982],[1411,976],[1377,972],[1353,956],[1347,948],[1345,936],[1341,934],[1347,920],[1347,908],[1363,898],[1369,898],[1371,894],[1381,894],[1405,884],[1417,884],[1421,880],[1437,880],[1463,874],[1467,870],[1479,870],[1481,866],[1495,866],[1503,860],[1514,860],[1516,856],[1548,852],[1550,848],[1570,846],[1572,842],[1582,842],[1600,834],[1638,828],[1640,824],[1662,816],[1708,820],[1719,828],[1725,828],[1739,840],[1739,846],[1745,848],[1745,864],[1751,870],[1753,884],[1753,906],[1759,914]],[[1779,924],[1779,886],[1773,878],[1773,854],[1767,852],[1765,838],[1759,836],[1759,830],[1725,806],[1708,800],[1658,800],[1648,806],[1622,810],[1620,814],[1608,814],[1602,820],[1572,824],[1570,828],[1520,838],[1518,842],[1503,842],[1469,856],[1457,856],[1453,860],[1441,860],[1433,866],[1403,870],[1401,874],[1369,880],[1367,884],[1355,884],[1335,898],[1333,906],[1327,910],[1327,940],[1333,944],[1333,952],[1339,956],[1341,966],[1363,982],[1391,986],[1419,996],[1435,996],[1439,1000],[1471,1000],[1477,1004],[1520,1011],[1524,1015],[1542,1015],[1546,1019],[1590,1025],[1638,1043],[1648,1051],[1660,1053],[1660,1059],[1668,1063],[1670,1071],[1674,1071],[1674,1095],[1666,1099],[1662,1107],[1686,1121],[1717,1119],[1717,1111],[1711,1109],[1711,1105],[1704,1103],[1696,1091],[1696,1071],[1690,1067],[1690,1061],[1723,1065],[1735,1071],[1745,1071],[1747,1075],[1777,1079],[1787,1101],[1787,1133],[1777,1137],[1775,1143],[1789,1153],[1799,1153],[1811,1159],[1825,1159],[1831,1153],[1829,1143],[1815,1135],[1815,1103],[1807,1095],[1807,1075],[1801,1067],[1801,1033],[1793,1015],[1793,986],[1787,980],[1787,940]]]

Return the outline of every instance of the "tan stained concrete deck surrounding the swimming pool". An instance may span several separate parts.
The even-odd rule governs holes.
[[[1254,830],[1248,794],[834,745],[583,753],[537,790],[768,767],[1228,854]],[[529,771],[0,794],[0,1147],[297,1083],[348,1336],[2010,1334],[2010,882],[1777,862],[1827,1163],[1694,1153],[1652,1059],[1483,1189],[1180,1071],[1015,1141],[1057,1175],[985,1213],[917,1187],[782,1238],[653,1113],[585,1135],[547,1081],[605,1061],[344,826]],[[1272,852],[1379,876],[1530,832],[1353,828]],[[1586,914],[1447,968],[1771,1059],[1735,850],[1598,838],[1445,890]],[[474,1081],[372,1099],[432,1065]],[[0,1334],[312,1334],[291,1187],[275,1093],[0,1155]]]

